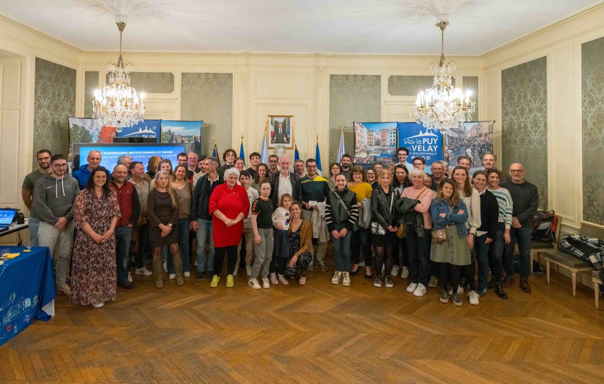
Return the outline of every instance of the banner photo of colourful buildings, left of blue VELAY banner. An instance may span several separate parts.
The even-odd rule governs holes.
[[[396,121],[390,123],[353,123],[355,164],[390,164],[396,152]]]

